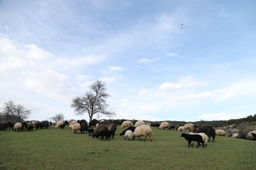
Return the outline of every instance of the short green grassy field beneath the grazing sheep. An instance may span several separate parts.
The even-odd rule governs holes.
[[[173,130],[153,130],[153,141],[100,141],[71,130],[0,131],[0,169],[255,169],[256,142],[216,137],[190,147]],[[212,140],[211,140],[212,141]],[[196,143],[195,143],[196,145]]]

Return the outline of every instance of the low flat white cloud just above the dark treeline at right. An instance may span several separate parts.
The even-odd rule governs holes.
[[[201,120],[230,120],[240,118],[240,113],[215,113],[198,115]]]

